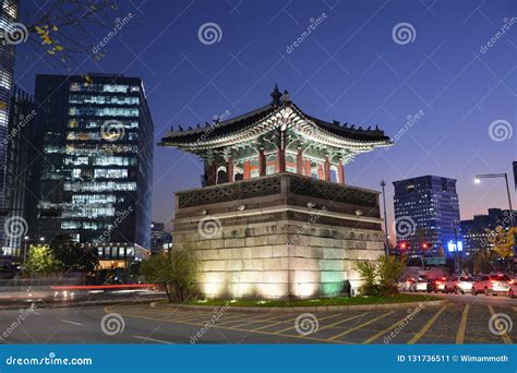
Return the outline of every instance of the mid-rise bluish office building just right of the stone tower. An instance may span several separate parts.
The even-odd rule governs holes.
[[[394,181],[395,224],[398,245],[410,252],[448,250],[460,238],[456,180],[422,176]]]

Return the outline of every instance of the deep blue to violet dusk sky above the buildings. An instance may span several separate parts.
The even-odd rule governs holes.
[[[39,11],[36,1],[21,1],[22,13]],[[422,175],[458,180],[461,219],[489,207],[507,208],[503,179],[479,185],[472,181],[476,173],[491,172],[508,172],[513,180],[516,1],[122,3],[120,16],[128,12],[135,16],[108,43],[103,50],[106,57],[72,70],[142,77],[156,142],[171,125],[187,128],[263,106],[278,83],[309,115],[363,127],[378,124],[392,139],[399,134],[392,148],[360,155],[346,168],[352,185],[380,190],[378,181],[387,181],[389,220],[392,181]],[[318,17],[311,35],[292,47],[311,19]],[[220,40],[209,45],[199,38],[200,27],[208,22],[221,31]],[[492,47],[482,48],[505,22],[505,34]],[[413,27],[409,40],[394,39],[392,32],[400,23]],[[96,31],[92,40],[106,33]],[[37,73],[65,70],[21,45],[16,84],[32,93]],[[420,119],[408,125],[408,116],[416,115]],[[201,173],[195,157],[156,146],[154,219],[170,221],[173,193],[200,186]]]

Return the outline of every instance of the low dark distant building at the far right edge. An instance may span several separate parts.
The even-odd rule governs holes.
[[[514,209],[515,215],[517,215],[517,210]],[[472,219],[461,220],[460,226],[467,252],[490,249],[493,244],[488,230],[494,230],[498,226],[510,227],[509,209],[489,208],[488,215],[474,215]]]

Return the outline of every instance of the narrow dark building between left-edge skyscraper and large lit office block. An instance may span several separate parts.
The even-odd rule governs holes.
[[[22,248],[29,243],[27,233],[27,183],[34,171],[34,123],[37,110],[32,96],[15,87],[11,98],[9,130],[2,140],[7,148],[5,178],[5,239],[3,254],[20,257]],[[25,242],[27,241],[27,242]]]

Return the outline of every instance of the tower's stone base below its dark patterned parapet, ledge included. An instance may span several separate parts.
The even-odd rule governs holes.
[[[173,244],[196,250],[204,297],[332,297],[345,280],[357,288],[356,261],[383,253],[376,213],[351,216],[332,201],[311,197],[297,206],[299,195],[281,195],[270,207],[273,200],[263,196],[177,209]],[[303,206],[305,200],[311,207]]]

